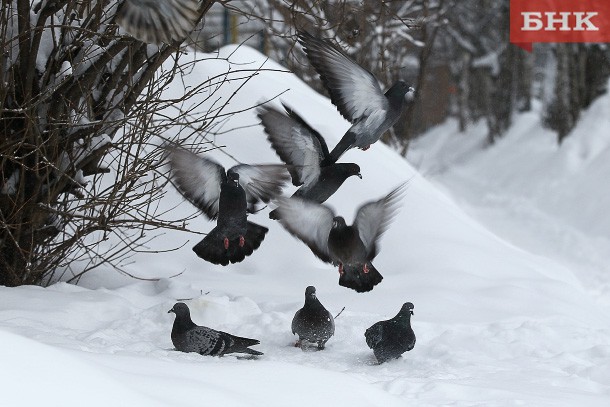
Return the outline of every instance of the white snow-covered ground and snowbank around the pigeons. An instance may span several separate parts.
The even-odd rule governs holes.
[[[264,61],[248,48],[221,54],[232,54],[232,70]],[[198,63],[168,95],[228,68],[223,60]],[[240,85],[228,82],[216,96],[230,97]],[[334,145],[348,124],[289,73],[260,72],[228,109],[287,89],[281,99]],[[336,269],[267,219],[268,210],[252,216],[270,229],[261,248],[226,268],[192,253],[202,235],[167,231],[151,244],[189,243],[138,254],[125,266],[158,281],[104,269],[80,286],[0,288],[0,404],[606,406],[609,106],[610,97],[598,100],[561,147],[528,113],[484,150],[478,126],[456,134],[448,122],[430,131],[408,157],[419,172],[380,143],[348,152],[341,160],[357,162],[363,179],[350,178],[329,201],[348,218],[363,201],[410,180],[375,259],[385,278],[370,293],[340,287]],[[260,126],[249,126],[256,123],[253,111],[233,116],[219,129],[232,131],[214,138],[226,148],[211,154],[226,165],[277,162]],[[164,205],[179,201],[170,190]],[[192,212],[187,203],[175,210]],[[207,232],[213,224],[200,217],[190,226]],[[290,321],[307,285],[316,286],[331,312],[346,307],[320,352],[292,346]],[[167,310],[177,300],[189,304],[198,324],[259,339],[255,348],[265,355],[245,360],[172,350]],[[364,330],[406,301],[415,305],[415,348],[377,365]]]

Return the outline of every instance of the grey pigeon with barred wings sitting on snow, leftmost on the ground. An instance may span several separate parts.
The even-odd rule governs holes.
[[[197,352],[210,356],[222,356],[227,353],[247,353],[256,356],[263,354],[249,348],[260,343],[257,339],[242,338],[195,325],[189,307],[183,302],[177,302],[167,312],[176,314],[172,327],[172,343],[181,352]]]

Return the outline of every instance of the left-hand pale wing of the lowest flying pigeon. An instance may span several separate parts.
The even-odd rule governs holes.
[[[333,211],[305,199],[279,198],[279,222],[296,238],[302,240],[320,260],[331,263],[328,235],[332,228]]]

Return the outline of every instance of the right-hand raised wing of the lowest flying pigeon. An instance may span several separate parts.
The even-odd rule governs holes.
[[[354,227],[358,230],[369,261],[377,255],[377,240],[396,214],[405,187],[406,184],[402,184],[383,198],[362,205],[356,213]]]

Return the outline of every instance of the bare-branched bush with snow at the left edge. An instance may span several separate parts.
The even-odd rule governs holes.
[[[200,3],[201,16],[212,3]],[[118,262],[144,249],[149,230],[181,227],[157,209],[167,181],[154,140],[167,123],[152,120],[180,101],[159,96],[181,69],[159,70],[180,42],[127,35],[114,23],[119,6],[3,2],[0,285],[45,283],[79,260],[81,273]],[[110,234],[123,245],[98,251]]]

